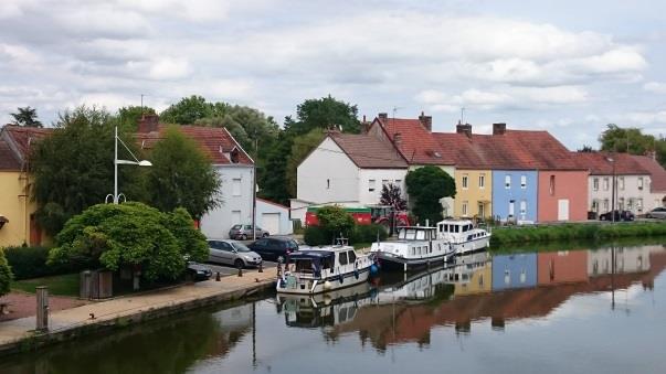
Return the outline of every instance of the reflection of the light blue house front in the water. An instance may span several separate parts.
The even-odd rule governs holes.
[[[537,254],[493,256],[493,291],[537,286]]]

